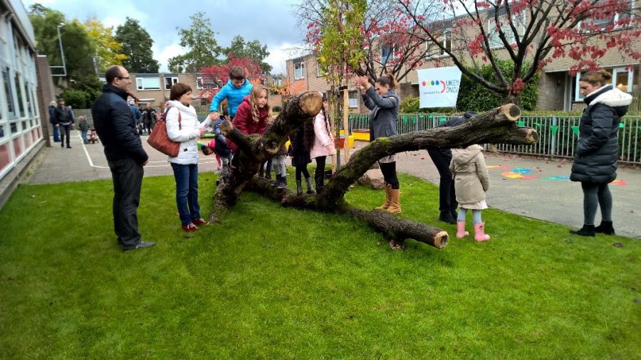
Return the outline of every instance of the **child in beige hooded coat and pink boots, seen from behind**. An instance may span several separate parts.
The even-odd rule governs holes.
[[[485,223],[481,221],[481,210],[487,208],[485,193],[489,189],[489,176],[485,165],[485,157],[480,145],[470,145],[466,149],[452,149],[452,162],[449,169],[454,176],[454,189],[459,203],[457,218],[457,238],[469,235],[465,231],[467,209],[472,211],[474,221],[474,239],[489,240],[485,233]]]

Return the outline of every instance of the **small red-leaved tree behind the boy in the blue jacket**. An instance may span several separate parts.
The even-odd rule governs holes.
[[[232,53],[229,53],[228,58],[229,61],[226,64],[211,65],[200,70],[203,88],[200,91],[200,97],[207,97],[207,99],[211,101],[212,97],[214,97],[229,80],[229,69],[234,66],[240,66],[245,69],[245,78],[249,80],[249,82],[254,85],[261,83],[263,73],[261,64],[258,61],[252,58],[235,58]]]

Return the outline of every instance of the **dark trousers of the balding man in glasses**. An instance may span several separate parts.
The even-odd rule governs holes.
[[[137,208],[145,170],[131,158],[108,163],[113,179],[113,228],[118,244],[128,250],[141,241]]]

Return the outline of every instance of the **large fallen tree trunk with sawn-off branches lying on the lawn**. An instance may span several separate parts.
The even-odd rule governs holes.
[[[534,129],[518,127],[516,120],[521,111],[509,104],[476,115],[457,127],[439,127],[409,134],[379,138],[356,152],[350,161],[328,181],[320,194],[296,195],[287,189],[276,189],[265,179],[254,177],[261,162],[271,159],[278,148],[306,120],[320,111],[320,95],[306,92],[293,97],[262,137],[246,136],[234,129],[229,122],[222,126],[223,133],[239,144],[229,181],[217,187],[210,222],[221,222],[224,213],[234,206],[244,189],[254,190],[283,206],[308,208],[315,211],[349,213],[389,240],[402,241],[414,238],[437,248],[447,245],[447,232],[423,223],[397,218],[385,211],[365,211],[346,203],[345,191],[378,159],[398,152],[415,151],[427,147],[467,147],[470,144],[534,144]]]

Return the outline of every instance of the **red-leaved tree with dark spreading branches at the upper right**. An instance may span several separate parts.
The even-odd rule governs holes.
[[[504,103],[518,104],[536,72],[556,58],[573,60],[570,75],[599,68],[599,59],[610,51],[628,63],[641,58],[639,1],[442,0],[437,11],[432,0],[396,2],[402,16],[422,30],[414,36],[434,43],[464,75]],[[441,38],[444,29],[452,34],[448,46]],[[501,58],[514,63],[511,74],[501,71]],[[490,63],[496,80],[474,71],[479,63]]]

